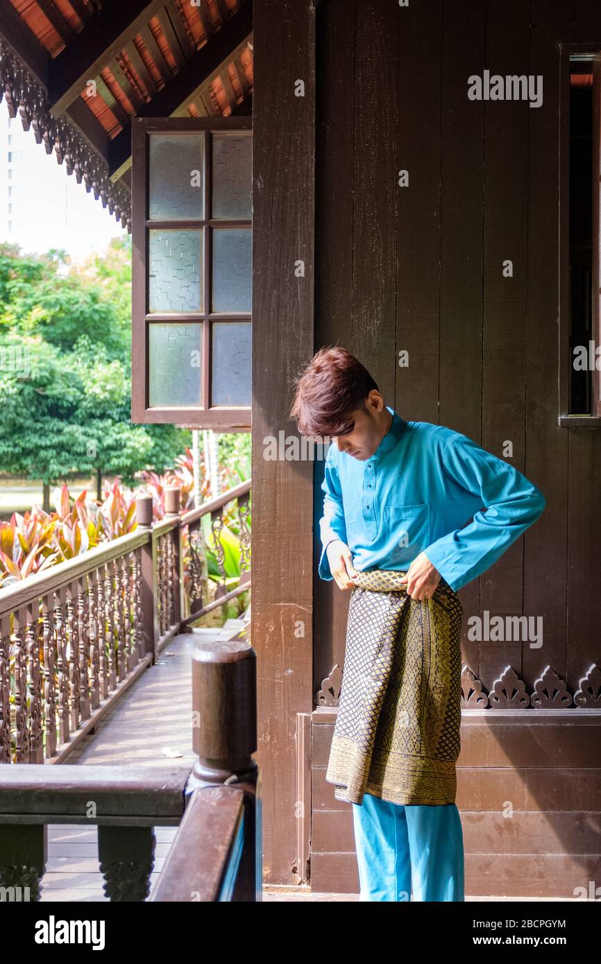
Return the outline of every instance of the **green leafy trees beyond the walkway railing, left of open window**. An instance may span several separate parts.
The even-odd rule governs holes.
[[[99,470],[132,485],[189,444],[174,425],[131,423],[130,288],[129,238],[76,267],[0,245],[0,469],[46,484]]]

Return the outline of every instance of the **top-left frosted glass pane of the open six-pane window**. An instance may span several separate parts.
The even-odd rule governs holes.
[[[203,217],[203,135],[150,134],[149,220]]]

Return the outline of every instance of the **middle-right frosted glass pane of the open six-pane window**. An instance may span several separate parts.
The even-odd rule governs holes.
[[[250,228],[217,228],[212,240],[213,311],[250,311]]]

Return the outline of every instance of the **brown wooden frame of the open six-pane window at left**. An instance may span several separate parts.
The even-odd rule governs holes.
[[[252,238],[253,219],[212,218],[211,204],[211,144],[212,133],[227,131],[248,132],[252,136],[253,121],[250,117],[229,118],[133,118],[132,119],[132,171],[131,171],[131,240],[132,240],[132,292],[131,292],[131,420],[135,423],[172,423],[186,428],[210,428],[215,431],[250,431],[251,405],[244,407],[210,406],[212,337],[214,322],[248,321],[252,325],[251,311],[221,312],[211,310],[212,264],[211,235],[213,228],[250,228]],[[200,134],[205,132],[204,150],[204,207],[203,218],[158,221],[147,217],[149,190],[149,143],[150,134]],[[203,310],[195,312],[152,312],[148,310],[148,240],[150,229],[200,228],[203,234]],[[251,306],[252,308],[252,306]],[[149,405],[149,324],[150,322],[181,323],[199,322],[203,325],[202,388],[203,405],[199,407],[152,407]],[[251,360],[249,360],[249,364]]]

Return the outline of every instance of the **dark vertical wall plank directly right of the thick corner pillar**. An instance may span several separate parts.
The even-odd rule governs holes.
[[[350,347],[353,270],[355,0],[316,8],[317,171],[315,183],[315,348]],[[314,463],[314,572],[321,542],[323,460]],[[314,578],[314,684],[344,660],[349,594]]]

